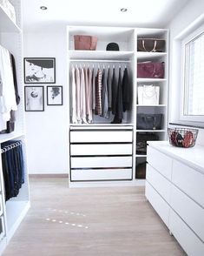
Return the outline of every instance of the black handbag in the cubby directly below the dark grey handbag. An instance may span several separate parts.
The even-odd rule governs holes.
[[[147,154],[147,141],[159,140],[159,136],[152,132],[141,133],[137,132],[136,135],[136,154],[146,155]]]

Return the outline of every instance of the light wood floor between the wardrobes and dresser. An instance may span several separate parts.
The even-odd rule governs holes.
[[[186,255],[143,187],[69,189],[65,178],[35,178],[30,189],[30,212],[4,256]]]

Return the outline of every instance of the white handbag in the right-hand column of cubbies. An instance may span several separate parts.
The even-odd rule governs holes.
[[[160,86],[158,85],[139,85],[138,104],[159,104]]]

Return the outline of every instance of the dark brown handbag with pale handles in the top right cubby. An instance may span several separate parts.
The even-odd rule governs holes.
[[[137,40],[137,51],[164,52],[165,40],[156,38],[139,38]]]

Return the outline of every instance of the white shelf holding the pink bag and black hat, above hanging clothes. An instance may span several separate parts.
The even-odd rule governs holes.
[[[75,60],[130,60],[134,55],[134,51],[69,51],[69,58]]]

